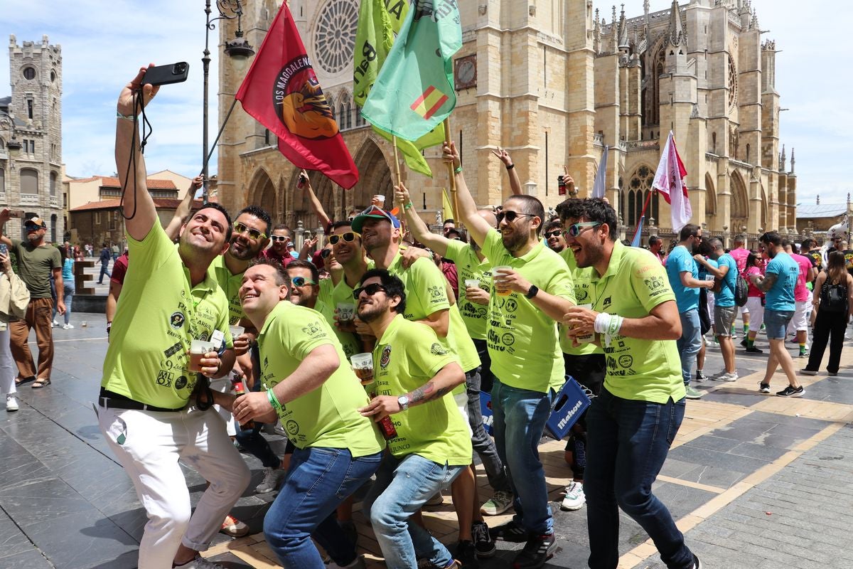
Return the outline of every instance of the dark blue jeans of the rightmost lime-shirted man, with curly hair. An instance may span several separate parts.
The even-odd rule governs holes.
[[[670,444],[684,418],[684,399],[666,404],[618,398],[605,389],[587,415],[587,499],[589,566],[614,569],[619,562],[619,510],[652,538],[670,569],[692,569],[670,511],[652,493]]]

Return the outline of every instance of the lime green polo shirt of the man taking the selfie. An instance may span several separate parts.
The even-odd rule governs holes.
[[[159,223],[142,241],[127,237],[133,262],[113,318],[101,385],[140,403],[178,409],[196,374],[187,369],[191,340],[223,333],[231,347],[228,300],[207,273],[195,287]]]

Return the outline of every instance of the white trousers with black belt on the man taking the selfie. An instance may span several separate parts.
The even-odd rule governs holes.
[[[207,549],[250,479],[217,412],[98,407],[98,424],[148,514],[139,569],[171,569],[181,543],[197,551]],[[178,461],[210,482],[191,517]]]

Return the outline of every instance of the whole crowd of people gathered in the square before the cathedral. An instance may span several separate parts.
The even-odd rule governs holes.
[[[230,514],[251,474],[232,438],[264,466],[255,490],[278,490],[264,536],[284,567],[364,566],[351,517],[363,485],[362,510],[388,567],[476,567],[496,554],[496,540],[524,544],[514,567],[541,567],[559,543],[538,445],[569,377],[592,402],[566,435],[572,482],[560,507],[586,508],[589,566],[618,566],[621,509],[666,566],[699,569],[652,487],[686,400],[702,395],[693,382],[706,379],[705,342],[716,341],[723,355],[713,379],[737,380],[740,310],[746,351],[760,352],[759,328],[770,344],[759,390],[770,391],[781,366],[789,385],[777,395],[798,397],[803,387],[785,342],[793,334],[807,346],[810,317],[802,373],[817,373],[827,342],[827,371],[838,372],[853,303],[842,253],[828,253],[818,274],[810,244],[803,262],[775,232],[761,235],[756,251],[738,238],[727,252],[696,225],[668,252],[657,236],[649,250],[629,247],[607,200],[570,198],[549,216],[521,193],[500,149],[513,193],[498,208],[481,208],[456,146],[444,144],[458,211],[441,233],[424,223],[403,184],[392,207],[376,196],[334,220],[307,176],[305,191],[328,228],[324,244],[308,239],[296,253],[291,230],[259,206],[233,220],[217,203],[191,212],[199,178],[164,228],[139,148],[136,113],[158,90],[141,87],[143,72],[117,105],[129,252],[110,277],[97,405],[102,434],[148,514],[141,569],[219,567],[200,552],[218,531],[248,531]],[[6,218],[0,212],[0,224]],[[37,241],[8,245],[20,258]],[[58,252],[40,263],[64,290]],[[2,252],[0,268],[3,311],[3,287],[14,287],[16,276]],[[812,282],[814,292],[804,294]],[[15,362],[23,358],[16,337],[36,321],[50,328],[49,289],[29,292],[26,315],[9,322]],[[66,311],[62,296],[56,305]],[[9,345],[3,334],[0,345]],[[49,384],[41,360],[37,372],[31,357],[21,379]],[[0,373],[3,362],[0,353]],[[493,436],[481,416],[485,393]],[[287,435],[284,456],[264,438],[271,424]],[[479,496],[474,453],[490,496]],[[179,462],[208,482],[194,510]],[[421,519],[444,489],[458,519],[456,543],[439,542]],[[510,509],[507,523],[489,526],[489,516]]]

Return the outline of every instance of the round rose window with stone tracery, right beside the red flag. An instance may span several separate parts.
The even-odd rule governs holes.
[[[357,26],[356,0],[328,0],[320,9],[314,29],[316,65],[329,75],[351,65]]]

